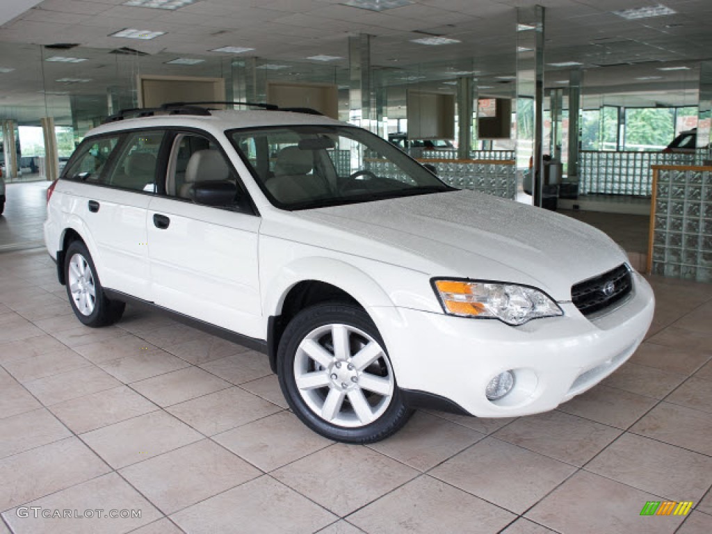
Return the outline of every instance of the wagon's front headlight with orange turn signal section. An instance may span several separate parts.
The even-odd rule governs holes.
[[[460,317],[499,319],[523,325],[540,317],[563,315],[561,308],[542,291],[501,282],[434,281],[445,313]]]

